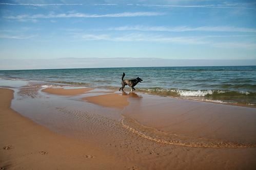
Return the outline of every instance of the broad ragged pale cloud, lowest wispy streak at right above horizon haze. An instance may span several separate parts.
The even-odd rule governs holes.
[[[255,50],[256,44],[253,42],[216,42],[211,38],[214,37],[240,37],[240,35],[231,36],[187,36],[187,37],[168,37],[164,35],[155,34],[137,34],[131,33],[121,36],[112,36],[107,34],[73,34],[75,39],[82,39],[86,41],[90,40],[106,40],[106,41],[117,41],[117,42],[163,42],[163,43],[175,43],[175,44],[192,44],[192,45],[210,45],[218,48],[245,48],[247,50]],[[243,36],[243,35],[242,35]]]

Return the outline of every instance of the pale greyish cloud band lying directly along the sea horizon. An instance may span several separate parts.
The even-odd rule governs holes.
[[[124,62],[125,61],[125,62]],[[11,64],[10,64],[11,63]],[[58,58],[1,59],[0,69],[103,68],[152,66],[235,66],[255,65],[256,60],[163,59],[163,58]]]

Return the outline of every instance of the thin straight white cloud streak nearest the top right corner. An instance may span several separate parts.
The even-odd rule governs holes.
[[[243,7],[243,6],[229,6],[229,5],[147,5],[147,4],[136,4],[136,6],[163,7],[163,8],[229,8],[229,9],[256,10],[256,8]]]

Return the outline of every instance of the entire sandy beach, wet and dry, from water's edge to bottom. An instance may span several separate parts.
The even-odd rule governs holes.
[[[13,90],[0,90],[3,168],[256,166],[254,108],[136,92],[40,87],[23,86],[14,99]]]

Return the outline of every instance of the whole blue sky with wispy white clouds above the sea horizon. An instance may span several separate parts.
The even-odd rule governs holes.
[[[0,69],[180,60],[256,65],[256,2],[0,0]]]

